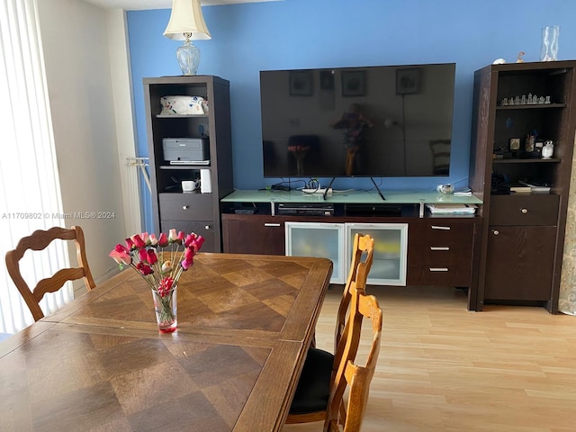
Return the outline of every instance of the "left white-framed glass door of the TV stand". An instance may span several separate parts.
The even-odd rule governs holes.
[[[334,266],[330,284],[346,283],[344,224],[285,222],[286,255],[328,258]]]

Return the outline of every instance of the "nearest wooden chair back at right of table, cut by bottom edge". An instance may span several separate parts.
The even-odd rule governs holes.
[[[324,422],[325,432],[359,432],[364,420],[370,383],[374,377],[376,363],[380,354],[382,338],[382,309],[374,295],[366,295],[361,291],[352,291],[351,315],[347,331],[346,346],[343,349],[343,358],[348,358],[338,364],[334,382],[330,390],[329,408]],[[363,320],[369,319],[372,323],[372,346],[364,366],[355,364],[352,359],[360,343]],[[353,355],[352,355],[353,354]],[[342,410],[344,393],[349,387],[346,410]]]

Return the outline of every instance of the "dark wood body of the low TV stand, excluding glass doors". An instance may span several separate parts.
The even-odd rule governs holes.
[[[306,217],[222,213],[224,252],[284,255],[284,227],[289,221],[367,223],[374,227],[386,223],[407,223],[407,284],[469,288],[468,308],[473,310],[476,304],[477,274],[473,272],[473,263],[476,259],[475,245],[479,238],[480,218],[419,218],[416,215]]]

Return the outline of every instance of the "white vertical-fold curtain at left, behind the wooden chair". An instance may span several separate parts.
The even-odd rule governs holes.
[[[35,0],[0,2],[0,130],[0,254],[4,257],[32,231],[64,226]],[[27,252],[21,261],[23,277],[31,286],[69,265],[64,242],[53,242],[46,252]],[[49,314],[72,299],[72,286],[67,284],[45,296],[40,307]],[[14,333],[32,322],[3,263],[0,332]]]

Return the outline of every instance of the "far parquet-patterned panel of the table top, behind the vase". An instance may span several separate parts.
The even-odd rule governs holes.
[[[311,280],[312,259],[227,259],[222,255],[201,254],[182,275],[178,283],[180,333],[229,329],[236,336],[256,331],[264,338],[275,337],[282,335],[296,302],[298,307],[312,308],[319,300],[318,294],[322,294],[301,293],[302,287],[318,282]],[[45,320],[103,326],[121,323],[128,328],[156,331],[152,294],[142,278],[126,269],[102,288],[78,299],[76,310],[65,308]],[[282,336],[296,340],[305,337]]]

